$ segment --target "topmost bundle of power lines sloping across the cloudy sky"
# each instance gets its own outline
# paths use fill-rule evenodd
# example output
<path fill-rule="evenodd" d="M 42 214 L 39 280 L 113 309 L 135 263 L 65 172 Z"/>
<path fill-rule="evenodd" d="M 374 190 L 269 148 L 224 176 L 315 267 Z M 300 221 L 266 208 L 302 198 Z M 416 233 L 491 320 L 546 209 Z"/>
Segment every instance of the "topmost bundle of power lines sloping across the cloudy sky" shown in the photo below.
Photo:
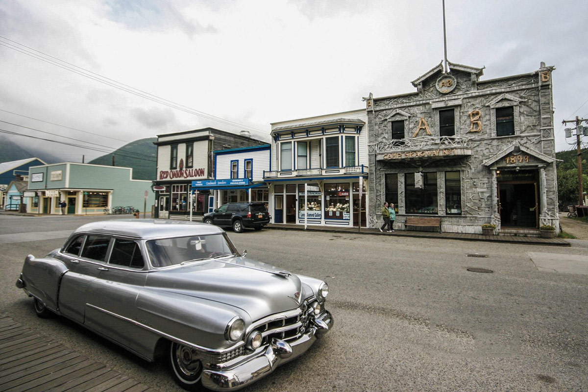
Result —
<path fill-rule="evenodd" d="M 125 84 L 123 84 L 121 82 L 117 82 L 113 79 L 106 78 L 105 76 L 99 75 L 98 73 L 88 71 L 87 69 L 81 68 L 77 65 L 73 65 L 73 64 L 68 63 L 66 61 L 63 61 L 61 59 L 58 59 L 54 56 L 48 55 L 44 52 L 30 48 L 29 46 L 23 45 L 22 43 L 13 41 L 12 39 L 6 38 L 4 36 L 0 36 L 0 38 L 5 39 L 6 41 L 14 42 L 16 45 L 22 46 L 23 48 L 31 49 L 31 51 L 34 51 L 36 53 L 31 52 L 31 51 L 27 51 L 26 49 L 19 48 L 18 46 L 12 45 L 11 43 L 0 41 L 0 45 L 5 46 L 6 48 L 13 49 L 14 51 L 23 53 L 25 55 L 39 59 L 39 60 L 44 61 L 46 63 L 58 66 L 59 68 L 66 69 L 67 71 L 77 73 L 78 75 L 85 76 L 86 78 L 92 79 L 97 82 L 101 82 L 105 85 L 112 86 L 112 87 L 117 88 L 119 90 L 131 93 L 133 95 L 152 100 L 153 102 L 161 103 L 162 105 L 166 105 L 166 106 L 169 106 L 174 109 L 182 110 L 183 112 L 191 113 L 196 116 L 201 116 L 202 118 L 213 120 L 215 122 L 223 123 L 225 125 L 235 126 L 237 128 L 245 128 L 245 129 L 251 130 L 253 132 L 258 132 L 258 133 L 263 133 L 263 135 L 268 135 L 268 132 L 263 131 L 261 129 L 246 126 L 246 125 L 243 125 L 243 124 L 240 124 L 237 122 L 233 122 L 231 120 L 226 120 L 226 119 L 223 119 L 223 118 L 220 118 L 217 116 L 213 116 L 209 113 L 201 112 L 200 110 L 189 108 L 188 106 L 184 106 L 179 103 L 173 102 L 171 100 L 161 98 L 161 97 L 153 95 L 151 93 L 133 88 L 132 86 L 125 85 Z M 40 53 L 40 55 L 38 53 Z M 46 56 L 47 58 L 45 58 L 43 56 Z M 55 59 L 55 60 L 52 60 L 52 59 Z"/>

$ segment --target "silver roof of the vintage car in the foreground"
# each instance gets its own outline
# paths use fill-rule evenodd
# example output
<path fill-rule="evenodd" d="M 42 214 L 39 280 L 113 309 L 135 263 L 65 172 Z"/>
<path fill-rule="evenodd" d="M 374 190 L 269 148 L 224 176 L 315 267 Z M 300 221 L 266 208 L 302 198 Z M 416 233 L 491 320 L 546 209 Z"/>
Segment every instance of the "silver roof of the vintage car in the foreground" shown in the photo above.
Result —
<path fill-rule="evenodd" d="M 77 233 L 101 233 L 117 236 L 155 239 L 222 233 L 213 225 L 181 220 L 163 219 L 117 219 L 86 223 L 74 231 Z"/>

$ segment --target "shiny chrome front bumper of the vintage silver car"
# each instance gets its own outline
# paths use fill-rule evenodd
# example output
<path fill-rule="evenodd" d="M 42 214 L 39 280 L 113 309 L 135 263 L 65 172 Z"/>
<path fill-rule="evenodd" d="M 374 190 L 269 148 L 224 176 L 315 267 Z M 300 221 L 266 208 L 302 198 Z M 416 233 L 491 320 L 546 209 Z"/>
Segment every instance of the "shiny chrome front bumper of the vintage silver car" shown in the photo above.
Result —
<path fill-rule="evenodd" d="M 333 317 L 328 311 L 310 321 L 310 327 L 296 340 L 286 342 L 274 339 L 265 351 L 223 370 L 204 370 L 202 385 L 214 391 L 235 391 L 272 373 L 276 367 L 301 356 L 315 343 L 318 336 L 326 334 L 333 327 Z"/>

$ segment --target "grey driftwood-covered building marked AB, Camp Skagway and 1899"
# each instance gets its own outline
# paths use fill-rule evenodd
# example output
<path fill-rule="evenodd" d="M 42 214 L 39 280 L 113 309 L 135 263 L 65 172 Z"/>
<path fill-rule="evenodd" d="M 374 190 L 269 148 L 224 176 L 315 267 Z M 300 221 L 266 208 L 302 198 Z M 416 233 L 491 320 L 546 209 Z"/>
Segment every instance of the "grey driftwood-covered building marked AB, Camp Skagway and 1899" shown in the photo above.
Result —
<path fill-rule="evenodd" d="M 412 82 L 416 92 L 370 93 L 369 227 L 388 201 L 399 229 L 558 228 L 553 69 L 480 81 L 482 68 L 440 64 Z"/>

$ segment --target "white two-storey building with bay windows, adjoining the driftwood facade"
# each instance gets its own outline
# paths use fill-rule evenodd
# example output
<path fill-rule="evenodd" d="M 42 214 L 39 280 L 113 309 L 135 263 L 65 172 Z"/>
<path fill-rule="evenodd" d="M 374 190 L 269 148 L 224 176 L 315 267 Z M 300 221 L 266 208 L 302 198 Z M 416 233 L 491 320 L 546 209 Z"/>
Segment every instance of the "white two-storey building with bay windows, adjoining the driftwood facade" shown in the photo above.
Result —
<path fill-rule="evenodd" d="M 366 123 L 365 109 L 272 123 L 272 223 L 366 227 Z"/>

